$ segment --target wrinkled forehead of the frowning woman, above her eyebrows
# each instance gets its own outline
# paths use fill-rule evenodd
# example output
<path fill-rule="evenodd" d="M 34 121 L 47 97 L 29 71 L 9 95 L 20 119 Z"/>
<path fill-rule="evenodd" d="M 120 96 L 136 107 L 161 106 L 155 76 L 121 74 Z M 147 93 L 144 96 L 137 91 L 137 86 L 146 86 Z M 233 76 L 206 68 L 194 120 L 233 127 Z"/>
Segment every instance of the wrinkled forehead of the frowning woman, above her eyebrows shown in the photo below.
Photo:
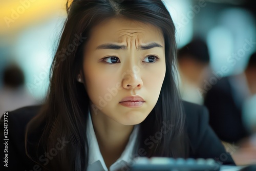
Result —
<path fill-rule="evenodd" d="M 164 46 L 164 37 L 159 28 L 126 18 L 108 19 L 95 26 L 90 36 L 95 44 L 134 40 L 138 44 L 154 41 Z"/>

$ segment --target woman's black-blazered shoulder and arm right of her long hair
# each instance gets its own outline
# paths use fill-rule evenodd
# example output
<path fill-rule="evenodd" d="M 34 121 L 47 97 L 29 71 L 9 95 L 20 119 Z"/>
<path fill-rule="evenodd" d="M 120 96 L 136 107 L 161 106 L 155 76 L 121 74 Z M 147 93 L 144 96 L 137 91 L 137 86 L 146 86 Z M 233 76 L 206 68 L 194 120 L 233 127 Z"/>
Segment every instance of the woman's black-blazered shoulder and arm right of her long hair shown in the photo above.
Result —
<path fill-rule="evenodd" d="M 189 157 L 213 158 L 222 164 L 234 164 L 220 139 L 209 125 L 205 106 L 183 101 L 186 116 L 185 127 L 189 139 Z"/>

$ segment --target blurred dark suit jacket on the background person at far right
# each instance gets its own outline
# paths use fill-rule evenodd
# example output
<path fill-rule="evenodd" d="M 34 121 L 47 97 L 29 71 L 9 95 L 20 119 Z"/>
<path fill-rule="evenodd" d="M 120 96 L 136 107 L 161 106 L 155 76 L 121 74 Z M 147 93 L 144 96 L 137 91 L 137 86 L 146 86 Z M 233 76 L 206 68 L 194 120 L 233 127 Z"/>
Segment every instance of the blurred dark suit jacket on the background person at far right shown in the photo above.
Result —
<path fill-rule="evenodd" d="M 204 105 L 209 110 L 209 124 L 217 136 L 226 142 L 237 142 L 248 136 L 242 122 L 242 102 L 237 104 L 229 77 L 221 78 L 205 95 Z M 243 99 L 240 99 L 243 100 Z"/>

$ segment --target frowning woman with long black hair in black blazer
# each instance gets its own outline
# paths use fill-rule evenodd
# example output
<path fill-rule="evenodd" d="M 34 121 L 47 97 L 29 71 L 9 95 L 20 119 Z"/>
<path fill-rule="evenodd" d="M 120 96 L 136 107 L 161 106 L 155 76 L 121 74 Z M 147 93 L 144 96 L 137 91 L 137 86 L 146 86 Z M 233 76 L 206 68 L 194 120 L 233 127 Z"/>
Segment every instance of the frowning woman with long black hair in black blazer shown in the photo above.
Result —
<path fill-rule="evenodd" d="M 37 169 L 126 170 L 137 156 L 225 153 L 207 115 L 185 120 L 175 27 L 162 1 L 74 1 L 67 9 L 45 104 L 27 124 L 26 154 Z M 200 143 L 212 147 L 203 130 L 217 153 L 200 151 Z"/>

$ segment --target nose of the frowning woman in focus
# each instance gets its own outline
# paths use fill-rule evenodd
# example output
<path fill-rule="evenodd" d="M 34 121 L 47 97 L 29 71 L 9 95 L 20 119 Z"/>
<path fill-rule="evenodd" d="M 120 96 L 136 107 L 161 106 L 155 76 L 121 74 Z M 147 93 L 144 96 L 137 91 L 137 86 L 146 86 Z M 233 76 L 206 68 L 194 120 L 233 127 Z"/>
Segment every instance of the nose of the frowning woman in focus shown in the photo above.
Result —
<path fill-rule="evenodd" d="M 136 71 L 126 72 L 123 76 L 122 87 L 124 89 L 140 89 L 143 86 L 140 73 Z"/>

